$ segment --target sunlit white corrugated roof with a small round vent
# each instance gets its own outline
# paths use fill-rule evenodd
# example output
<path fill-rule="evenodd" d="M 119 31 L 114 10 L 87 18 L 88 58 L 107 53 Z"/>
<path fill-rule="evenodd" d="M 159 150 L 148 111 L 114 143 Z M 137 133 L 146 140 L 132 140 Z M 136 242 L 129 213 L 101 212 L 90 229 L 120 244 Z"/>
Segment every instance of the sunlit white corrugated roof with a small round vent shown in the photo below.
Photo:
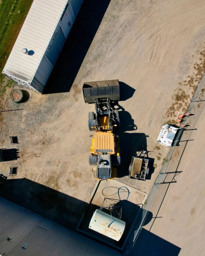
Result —
<path fill-rule="evenodd" d="M 68 0 L 34 0 L 3 72 L 30 83 Z M 22 49 L 34 54 L 22 53 Z"/>

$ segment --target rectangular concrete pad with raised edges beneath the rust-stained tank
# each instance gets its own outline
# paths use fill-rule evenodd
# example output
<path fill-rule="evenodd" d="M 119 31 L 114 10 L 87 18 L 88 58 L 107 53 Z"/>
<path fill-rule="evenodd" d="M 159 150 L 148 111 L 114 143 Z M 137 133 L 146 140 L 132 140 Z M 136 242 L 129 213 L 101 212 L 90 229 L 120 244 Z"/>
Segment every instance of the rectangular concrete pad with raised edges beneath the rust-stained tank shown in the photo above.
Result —
<path fill-rule="evenodd" d="M 118 195 L 119 188 L 120 190 Z M 128 191 L 126 188 L 128 189 Z M 104 201 L 105 198 L 106 200 Z M 127 242 L 130 232 L 136 222 L 136 219 L 140 213 L 140 210 L 146 198 L 146 193 L 131 186 L 128 186 L 118 180 L 101 181 L 99 182 L 99 186 L 95 191 L 95 194 L 87 208 L 87 211 L 82 216 L 82 219 L 78 224 L 77 230 L 86 235 L 94 237 L 95 239 L 98 239 L 101 242 L 110 244 L 115 248 L 123 250 L 124 245 Z M 89 223 L 93 216 L 93 213 L 96 209 L 101 208 L 102 203 L 103 207 L 109 207 L 112 203 L 115 203 L 116 206 L 122 207 L 121 220 L 126 222 L 126 226 L 124 233 L 118 242 L 89 229 Z"/>

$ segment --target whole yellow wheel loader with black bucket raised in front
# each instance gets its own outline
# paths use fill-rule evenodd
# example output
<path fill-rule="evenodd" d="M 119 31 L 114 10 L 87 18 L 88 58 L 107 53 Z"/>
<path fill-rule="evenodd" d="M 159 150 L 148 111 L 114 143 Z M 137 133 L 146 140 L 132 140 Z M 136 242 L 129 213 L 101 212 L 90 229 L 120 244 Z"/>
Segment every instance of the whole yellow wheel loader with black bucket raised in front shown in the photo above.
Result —
<path fill-rule="evenodd" d="M 88 114 L 88 128 L 95 131 L 90 147 L 89 163 L 93 177 L 99 180 L 117 178 L 116 166 L 120 165 L 119 136 L 113 127 L 120 125 L 118 110 L 111 103 L 119 101 L 118 80 L 87 82 L 83 84 L 85 103 L 95 103 L 95 113 Z"/>

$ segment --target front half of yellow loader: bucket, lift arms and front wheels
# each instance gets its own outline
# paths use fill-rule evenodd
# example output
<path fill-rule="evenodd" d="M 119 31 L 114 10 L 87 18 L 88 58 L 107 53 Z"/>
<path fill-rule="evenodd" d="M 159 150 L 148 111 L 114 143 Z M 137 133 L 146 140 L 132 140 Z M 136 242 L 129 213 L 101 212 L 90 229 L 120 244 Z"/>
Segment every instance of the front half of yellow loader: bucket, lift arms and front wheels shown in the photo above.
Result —
<path fill-rule="evenodd" d="M 95 113 L 88 113 L 90 131 L 112 131 L 119 127 L 119 112 L 111 107 L 111 103 L 119 101 L 118 80 L 86 82 L 83 84 L 85 103 L 95 104 Z"/>

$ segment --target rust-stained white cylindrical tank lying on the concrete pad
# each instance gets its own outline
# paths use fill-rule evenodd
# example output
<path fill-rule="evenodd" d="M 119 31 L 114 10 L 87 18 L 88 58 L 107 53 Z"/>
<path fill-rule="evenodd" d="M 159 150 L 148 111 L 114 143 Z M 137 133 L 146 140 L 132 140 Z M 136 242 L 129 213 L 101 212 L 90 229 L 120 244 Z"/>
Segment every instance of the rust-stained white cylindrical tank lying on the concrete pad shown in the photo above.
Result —
<path fill-rule="evenodd" d="M 111 239 L 119 241 L 125 230 L 125 222 L 115 217 L 111 217 L 110 214 L 96 210 L 93 213 L 89 228 L 102 235 L 106 235 Z"/>

